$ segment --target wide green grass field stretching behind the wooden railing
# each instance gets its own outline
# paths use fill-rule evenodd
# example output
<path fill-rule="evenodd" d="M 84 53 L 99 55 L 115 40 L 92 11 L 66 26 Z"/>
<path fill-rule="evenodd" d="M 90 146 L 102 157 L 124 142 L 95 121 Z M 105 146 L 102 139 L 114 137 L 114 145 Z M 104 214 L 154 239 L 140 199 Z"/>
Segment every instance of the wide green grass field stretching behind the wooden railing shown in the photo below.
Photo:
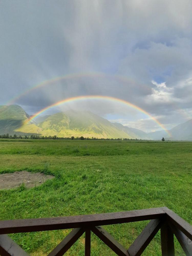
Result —
<path fill-rule="evenodd" d="M 43 218 L 167 206 L 192 224 L 192 142 L 0 140 L 0 173 L 53 174 L 39 187 L 0 191 L 0 218 Z M 105 226 L 128 248 L 147 221 Z M 46 255 L 69 230 L 13 234 Z M 115 255 L 92 234 L 91 255 Z M 176 242 L 176 255 L 183 255 Z M 67 255 L 84 255 L 84 236 Z M 161 255 L 158 232 L 143 255 Z"/>

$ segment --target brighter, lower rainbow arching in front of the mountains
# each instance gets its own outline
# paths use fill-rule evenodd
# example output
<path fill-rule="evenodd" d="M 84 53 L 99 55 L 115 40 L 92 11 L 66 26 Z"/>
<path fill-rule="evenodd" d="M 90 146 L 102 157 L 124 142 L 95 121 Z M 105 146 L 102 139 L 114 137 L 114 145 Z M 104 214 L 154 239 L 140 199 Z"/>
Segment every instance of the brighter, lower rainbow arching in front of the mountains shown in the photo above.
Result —
<path fill-rule="evenodd" d="M 29 124 L 30 121 L 32 121 L 34 118 L 36 118 L 38 115 L 42 114 L 43 112 L 45 112 L 48 109 L 51 109 L 55 106 L 59 106 L 61 104 L 65 104 L 65 103 L 69 103 L 69 102 L 74 102 L 74 101 L 81 101 L 81 100 L 98 100 L 98 99 L 102 99 L 102 100 L 108 100 L 108 101 L 113 101 L 113 102 L 119 102 L 119 103 L 123 103 L 127 106 L 130 106 L 142 113 L 144 113 L 145 115 L 149 116 L 154 122 L 156 122 L 163 130 L 166 131 L 166 133 L 168 134 L 168 136 L 172 136 L 170 134 L 170 132 L 164 127 L 163 124 L 161 124 L 156 118 L 154 118 L 150 113 L 148 113 L 147 111 L 145 111 L 144 109 L 140 108 L 139 106 L 136 106 L 128 101 L 122 100 L 122 99 L 118 99 L 118 98 L 114 98 L 114 97 L 110 97 L 110 96 L 102 96 L 102 95 L 86 95 L 86 96 L 76 96 L 76 97 L 72 97 L 72 98 L 68 98 L 68 99 L 64 99 L 61 101 L 58 101 L 54 104 L 51 104 L 43 109 L 41 109 L 40 111 L 38 111 L 36 114 L 34 114 L 30 119 L 27 120 L 26 124 Z"/>

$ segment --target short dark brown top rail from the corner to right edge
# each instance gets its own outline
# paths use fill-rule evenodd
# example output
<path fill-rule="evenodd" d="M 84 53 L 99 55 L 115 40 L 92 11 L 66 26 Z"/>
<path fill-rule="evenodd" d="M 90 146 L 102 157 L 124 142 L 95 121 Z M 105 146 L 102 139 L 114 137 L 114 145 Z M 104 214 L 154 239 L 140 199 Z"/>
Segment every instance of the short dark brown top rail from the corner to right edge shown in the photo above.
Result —
<path fill-rule="evenodd" d="M 192 241 L 192 226 L 168 208 L 164 209 L 164 211 L 167 214 L 167 221 L 172 222 L 175 227 L 181 230 Z"/>

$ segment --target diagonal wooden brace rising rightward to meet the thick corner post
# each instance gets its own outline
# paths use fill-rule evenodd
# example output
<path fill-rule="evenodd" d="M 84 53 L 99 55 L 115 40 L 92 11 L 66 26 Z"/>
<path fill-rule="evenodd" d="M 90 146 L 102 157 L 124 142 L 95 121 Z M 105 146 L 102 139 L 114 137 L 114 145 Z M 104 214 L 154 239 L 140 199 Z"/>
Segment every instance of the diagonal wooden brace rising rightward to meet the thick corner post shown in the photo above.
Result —
<path fill-rule="evenodd" d="M 135 239 L 132 245 L 129 247 L 128 252 L 131 256 L 139 256 L 146 249 L 148 244 L 154 238 L 158 230 L 161 228 L 163 220 L 155 219 L 151 220 L 141 234 Z"/>

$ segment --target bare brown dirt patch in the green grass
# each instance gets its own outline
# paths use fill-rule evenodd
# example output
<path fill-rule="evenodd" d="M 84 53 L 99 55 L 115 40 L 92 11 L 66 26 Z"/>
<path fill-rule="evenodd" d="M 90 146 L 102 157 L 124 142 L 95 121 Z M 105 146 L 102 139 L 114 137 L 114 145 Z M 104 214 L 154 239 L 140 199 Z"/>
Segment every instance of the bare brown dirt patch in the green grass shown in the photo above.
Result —
<path fill-rule="evenodd" d="M 27 171 L 0 174 L 0 189 L 10 189 L 19 187 L 22 183 L 27 188 L 39 186 L 47 179 L 52 179 L 54 176 L 45 175 L 43 173 L 31 173 Z"/>

